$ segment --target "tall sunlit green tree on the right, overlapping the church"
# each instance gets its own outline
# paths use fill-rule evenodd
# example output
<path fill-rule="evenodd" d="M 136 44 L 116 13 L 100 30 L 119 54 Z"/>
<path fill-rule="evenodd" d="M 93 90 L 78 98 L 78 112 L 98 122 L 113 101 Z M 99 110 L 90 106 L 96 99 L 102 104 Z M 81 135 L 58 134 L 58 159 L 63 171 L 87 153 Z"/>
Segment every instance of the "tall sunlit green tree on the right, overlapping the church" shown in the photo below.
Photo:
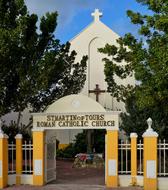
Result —
<path fill-rule="evenodd" d="M 117 40 L 118 46 L 107 44 L 100 49 L 100 52 L 111 56 L 111 59 L 104 59 L 104 72 L 111 94 L 126 101 L 135 93 L 138 106 L 135 111 L 146 109 L 146 115 L 155 113 L 151 117 L 165 137 L 168 128 L 168 1 L 136 1 L 146 6 L 150 14 L 127 11 L 131 22 L 139 26 L 139 37 L 129 33 Z M 123 61 L 127 63 L 125 66 Z M 135 87 L 117 85 L 115 75 L 121 79 L 134 75 L 138 82 Z M 141 123 L 141 127 L 143 125 Z"/>

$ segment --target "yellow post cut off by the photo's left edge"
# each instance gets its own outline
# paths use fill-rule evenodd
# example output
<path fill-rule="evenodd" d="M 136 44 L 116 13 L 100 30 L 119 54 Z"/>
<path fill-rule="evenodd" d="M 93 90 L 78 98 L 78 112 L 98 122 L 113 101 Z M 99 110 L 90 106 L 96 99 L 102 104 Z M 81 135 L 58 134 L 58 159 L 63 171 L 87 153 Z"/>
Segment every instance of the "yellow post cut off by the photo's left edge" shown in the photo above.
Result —
<path fill-rule="evenodd" d="M 8 183 L 8 136 L 1 130 L 0 120 L 0 189 Z"/>

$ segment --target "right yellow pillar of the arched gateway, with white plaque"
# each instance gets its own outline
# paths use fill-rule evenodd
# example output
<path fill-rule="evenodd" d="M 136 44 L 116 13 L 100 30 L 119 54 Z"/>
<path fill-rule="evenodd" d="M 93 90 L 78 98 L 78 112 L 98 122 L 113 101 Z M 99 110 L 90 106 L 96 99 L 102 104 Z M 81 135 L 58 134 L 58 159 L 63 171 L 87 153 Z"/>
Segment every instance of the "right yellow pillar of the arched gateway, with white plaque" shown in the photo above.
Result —
<path fill-rule="evenodd" d="M 106 185 L 118 186 L 118 129 L 107 130 L 106 134 Z"/>

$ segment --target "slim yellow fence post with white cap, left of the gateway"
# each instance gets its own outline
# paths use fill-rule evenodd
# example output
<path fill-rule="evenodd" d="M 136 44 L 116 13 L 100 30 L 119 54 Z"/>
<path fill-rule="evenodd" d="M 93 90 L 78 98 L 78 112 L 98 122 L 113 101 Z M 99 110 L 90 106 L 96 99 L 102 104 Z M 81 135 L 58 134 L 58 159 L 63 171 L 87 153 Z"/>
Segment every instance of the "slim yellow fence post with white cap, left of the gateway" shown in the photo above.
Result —
<path fill-rule="evenodd" d="M 21 184 L 21 175 L 22 175 L 22 135 L 17 134 L 16 139 L 16 185 Z"/>

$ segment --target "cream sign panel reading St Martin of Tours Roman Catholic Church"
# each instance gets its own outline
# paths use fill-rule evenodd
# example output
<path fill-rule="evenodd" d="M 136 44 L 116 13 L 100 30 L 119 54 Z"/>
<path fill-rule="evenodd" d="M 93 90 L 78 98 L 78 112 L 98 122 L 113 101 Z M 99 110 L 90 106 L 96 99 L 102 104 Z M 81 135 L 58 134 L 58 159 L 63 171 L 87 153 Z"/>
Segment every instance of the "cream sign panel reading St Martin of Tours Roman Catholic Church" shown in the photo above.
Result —
<path fill-rule="evenodd" d="M 118 114 L 112 114 L 112 112 L 34 113 L 33 127 L 38 129 L 118 129 Z"/>

